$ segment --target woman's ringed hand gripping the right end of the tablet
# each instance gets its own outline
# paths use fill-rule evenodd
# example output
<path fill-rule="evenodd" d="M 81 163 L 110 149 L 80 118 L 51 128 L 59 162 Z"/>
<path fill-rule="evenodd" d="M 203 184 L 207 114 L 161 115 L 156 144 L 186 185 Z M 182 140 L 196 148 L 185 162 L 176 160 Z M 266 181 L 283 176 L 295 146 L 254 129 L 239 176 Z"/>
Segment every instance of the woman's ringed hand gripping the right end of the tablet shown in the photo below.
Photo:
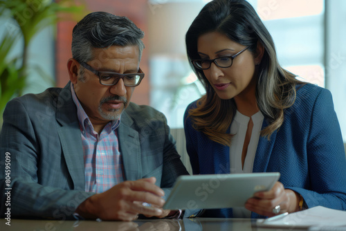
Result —
<path fill-rule="evenodd" d="M 297 212 L 299 210 L 300 195 L 292 190 L 285 190 L 284 185 L 276 182 L 273 188 L 266 192 L 256 192 L 246 201 L 245 207 L 263 216 L 276 216 L 284 212 Z M 273 208 L 280 205 L 280 212 L 275 214 Z"/>

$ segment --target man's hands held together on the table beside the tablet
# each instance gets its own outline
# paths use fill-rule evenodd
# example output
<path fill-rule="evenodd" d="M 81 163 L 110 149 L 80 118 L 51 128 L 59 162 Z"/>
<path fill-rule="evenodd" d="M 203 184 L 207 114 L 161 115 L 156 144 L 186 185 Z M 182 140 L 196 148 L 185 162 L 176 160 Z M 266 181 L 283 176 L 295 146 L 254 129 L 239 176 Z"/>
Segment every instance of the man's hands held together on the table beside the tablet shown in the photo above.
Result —
<path fill-rule="evenodd" d="M 161 196 L 163 190 L 154 183 L 156 178 L 144 178 L 138 181 L 125 181 L 110 190 L 95 194 L 81 203 L 77 210 L 86 219 L 133 221 L 138 214 L 161 217 L 165 212 L 161 209 L 165 201 Z M 143 201 L 152 207 L 134 203 Z"/>

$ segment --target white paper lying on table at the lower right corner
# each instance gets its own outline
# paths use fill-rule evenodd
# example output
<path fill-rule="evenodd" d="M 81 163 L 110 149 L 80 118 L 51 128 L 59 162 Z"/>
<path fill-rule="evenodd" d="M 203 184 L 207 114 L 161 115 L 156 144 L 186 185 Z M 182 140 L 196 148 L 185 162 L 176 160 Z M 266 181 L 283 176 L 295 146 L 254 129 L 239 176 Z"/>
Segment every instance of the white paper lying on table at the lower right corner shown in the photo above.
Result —
<path fill-rule="evenodd" d="M 293 212 L 280 219 L 266 221 L 259 219 L 258 226 L 309 228 L 315 226 L 346 226 L 346 211 L 333 210 L 327 207 L 316 206 L 307 210 Z"/>

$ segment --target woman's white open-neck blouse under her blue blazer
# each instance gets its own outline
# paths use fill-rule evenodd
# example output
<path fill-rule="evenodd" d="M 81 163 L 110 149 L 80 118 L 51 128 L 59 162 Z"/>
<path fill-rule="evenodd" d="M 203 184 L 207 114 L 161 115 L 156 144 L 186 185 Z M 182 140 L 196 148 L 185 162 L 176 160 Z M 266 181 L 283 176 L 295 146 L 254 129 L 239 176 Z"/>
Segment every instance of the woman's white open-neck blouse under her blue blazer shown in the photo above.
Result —
<path fill-rule="evenodd" d="M 253 162 L 255 160 L 264 116 L 261 111 L 258 111 L 251 116 L 251 119 L 253 120 L 253 131 L 251 132 L 250 142 L 248 143 L 244 167 L 242 167 L 242 151 L 250 117 L 237 111 L 230 126 L 230 133 L 234 134 L 232 144 L 230 145 L 230 173 L 232 174 L 253 172 Z M 244 207 L 233 207 L 233 217 L 249 218 L 251 217 L 251 211 L 246 210 Z"/>

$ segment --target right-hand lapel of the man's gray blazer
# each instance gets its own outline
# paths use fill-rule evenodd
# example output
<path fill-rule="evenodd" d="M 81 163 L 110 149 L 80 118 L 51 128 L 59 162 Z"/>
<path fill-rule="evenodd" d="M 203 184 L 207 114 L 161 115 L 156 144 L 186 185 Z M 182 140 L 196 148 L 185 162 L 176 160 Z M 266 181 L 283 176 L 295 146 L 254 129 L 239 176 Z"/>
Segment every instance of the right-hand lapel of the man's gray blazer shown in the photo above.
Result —
<path fill-rule="evenodd" d="M 134 121 L 125 110 L 120 119 L 118 141 L 126 181 L 136 181 L 142 176 L 139 134 L 138 131 L 131 128 L 133 123 Z"/>

